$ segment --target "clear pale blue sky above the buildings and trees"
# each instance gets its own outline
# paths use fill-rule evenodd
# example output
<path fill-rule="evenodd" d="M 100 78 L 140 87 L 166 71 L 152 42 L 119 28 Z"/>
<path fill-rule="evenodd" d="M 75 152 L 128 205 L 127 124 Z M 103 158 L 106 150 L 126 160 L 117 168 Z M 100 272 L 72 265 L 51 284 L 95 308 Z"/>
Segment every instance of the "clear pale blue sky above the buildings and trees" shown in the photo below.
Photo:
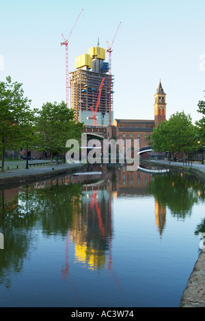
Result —
<path fill-rule="evenodd" d="M 205 91 L 204 0 L 1 0 L 0 81 L 23 83 L 32 107 L 66 101 L 65 47 L 74 59 L 113 44 L 114 117 L 154 119 L 159 80 L 167 93 L 167 119 L 176 111 L 193 121 Z M 107 56 L 108 61 L 108 56 Z"/>

